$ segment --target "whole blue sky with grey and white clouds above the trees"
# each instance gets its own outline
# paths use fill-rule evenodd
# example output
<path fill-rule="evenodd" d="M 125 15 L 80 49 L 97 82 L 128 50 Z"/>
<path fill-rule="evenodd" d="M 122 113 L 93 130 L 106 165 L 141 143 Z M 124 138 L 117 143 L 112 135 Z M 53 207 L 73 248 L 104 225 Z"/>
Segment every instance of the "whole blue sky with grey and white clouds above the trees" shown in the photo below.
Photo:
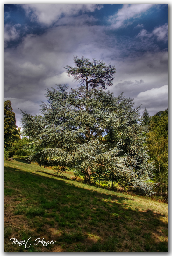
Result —
<path fill-rule="evenodd" d="M 150 116 L 168 107 L 167 4 L 5 4 L 4 95 L 39 113 L 46 89 L 77 87 L 64 69 L 73 56 L 116 68 L 107 90 L 134 99 Z"/>

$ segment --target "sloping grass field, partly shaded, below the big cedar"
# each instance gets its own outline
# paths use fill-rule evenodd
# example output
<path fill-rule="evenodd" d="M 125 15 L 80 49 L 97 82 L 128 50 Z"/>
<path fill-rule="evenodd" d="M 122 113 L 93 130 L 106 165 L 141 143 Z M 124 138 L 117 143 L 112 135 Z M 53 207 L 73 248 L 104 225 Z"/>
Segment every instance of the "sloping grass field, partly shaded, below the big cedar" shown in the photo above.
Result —
<path fill-rule="evenodd" d="M 5 160 L 5 252 L 168 251 L 168 204 L 54 177 L 15 159 Z M 10 238 L 30 238 L 31 245 Z M 34 245 L 37 238 L 56 242 Z"/>

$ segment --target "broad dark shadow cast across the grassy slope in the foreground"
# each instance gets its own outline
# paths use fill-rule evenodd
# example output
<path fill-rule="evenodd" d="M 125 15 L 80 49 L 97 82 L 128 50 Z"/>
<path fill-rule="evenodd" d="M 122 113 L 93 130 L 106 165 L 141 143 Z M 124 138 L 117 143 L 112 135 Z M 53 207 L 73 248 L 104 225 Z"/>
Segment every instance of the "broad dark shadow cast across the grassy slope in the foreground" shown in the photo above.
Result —
<path fill-rule="evenodd" d="M 77 228 L 80 228 L 82 232 L 91 233 L 101 239 L 98 242 L 93 239 L 89 244 L 86 237 L 79 239 L 86 246 L 85 252 L 115 252 L 119 248 L 135 252 L 168 250 L 163 236 L 163 232 L 167 232 L 168 224 L 161 220 L 163 214 L 137 208 L 135 200 L 128 196 L 94 191 L 88 185 L 79 188 L 74 182 L 70 184 L 68 181 L 10 167 L 5 168 L 5 181 L 8 182 L 8 193 L 12 194 L 13 189 L 18 188 L 20 197 L 26 199 L 16 206 L 13 214 L 22 214 L 28 220 L 53 216 L 54 221 L 48 225 L 55 225 L 64 231 L 61 238 L 56 237 L 59 244 L 65 242 L 70 247 L 78 239 L 77 233 L 70 233 L 70 229 L 77 232 Z M 128 200 L 133 200 L 132 207 Z M 69 235 L 65 233 L 65 229 Z M 37 230 L 42 230 L 41 235 L 44 234 L 40 227 Z M 61 241 L 62 238 L 64 241 Z"/>

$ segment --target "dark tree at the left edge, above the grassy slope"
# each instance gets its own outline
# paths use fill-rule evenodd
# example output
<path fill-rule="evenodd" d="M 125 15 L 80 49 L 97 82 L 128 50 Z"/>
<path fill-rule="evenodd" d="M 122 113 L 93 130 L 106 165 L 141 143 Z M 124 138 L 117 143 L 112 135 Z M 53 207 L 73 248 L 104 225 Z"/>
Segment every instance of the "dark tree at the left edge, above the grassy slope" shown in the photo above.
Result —
<path fill-rule="evenodd" d="M 4 103 L 4 147 L 12 157 L 14 154 L 13 145 L 20 139 L 16 126 L 15 113 L 12 111 L 11 101 Z"/>

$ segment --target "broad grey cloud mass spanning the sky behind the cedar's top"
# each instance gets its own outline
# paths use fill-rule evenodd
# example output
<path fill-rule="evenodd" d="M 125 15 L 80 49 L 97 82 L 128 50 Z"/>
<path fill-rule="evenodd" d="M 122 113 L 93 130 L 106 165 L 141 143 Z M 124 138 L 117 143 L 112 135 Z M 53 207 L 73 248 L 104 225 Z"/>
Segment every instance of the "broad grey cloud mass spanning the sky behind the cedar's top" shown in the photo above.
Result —
<path fill-rule="evenodd" d="M 49 20 L 48 24 L 56 22 L 57 26 L 47 28 L 39 35 L 25 35 L 16 47 L 6 48 L 5 97 L 13 99 L 12 107 L 18 120 L 18 108 L 31 114 L 39 112 L 41 100 L 47 100 L 44 96 L 46 88 L 58 83 L 67 83 L 72 88 L 77 86 L 63 68 L 74 66 L 73 55 L 115 65 L 114 86 L 108 88 L 115 96 L 124 92 L 127 97 L 137 98 L 140 92 L 167 84 L 168 53 L 160 52 L 151 38 L 146 37 L 141 44 L 135 38 L 118 39 L 115 33 L 106 33 L 105 25 L 93 25 L 94 17 L 88 17 L 86 13 L 80 15 L 79 11 L 78 14 L 77 17 L 64 14 L 66 16 L 59 16 L 58 21 L 52 14 L 57 22 Z M 138 104 L 142 103 L 140 99 Z"/>

